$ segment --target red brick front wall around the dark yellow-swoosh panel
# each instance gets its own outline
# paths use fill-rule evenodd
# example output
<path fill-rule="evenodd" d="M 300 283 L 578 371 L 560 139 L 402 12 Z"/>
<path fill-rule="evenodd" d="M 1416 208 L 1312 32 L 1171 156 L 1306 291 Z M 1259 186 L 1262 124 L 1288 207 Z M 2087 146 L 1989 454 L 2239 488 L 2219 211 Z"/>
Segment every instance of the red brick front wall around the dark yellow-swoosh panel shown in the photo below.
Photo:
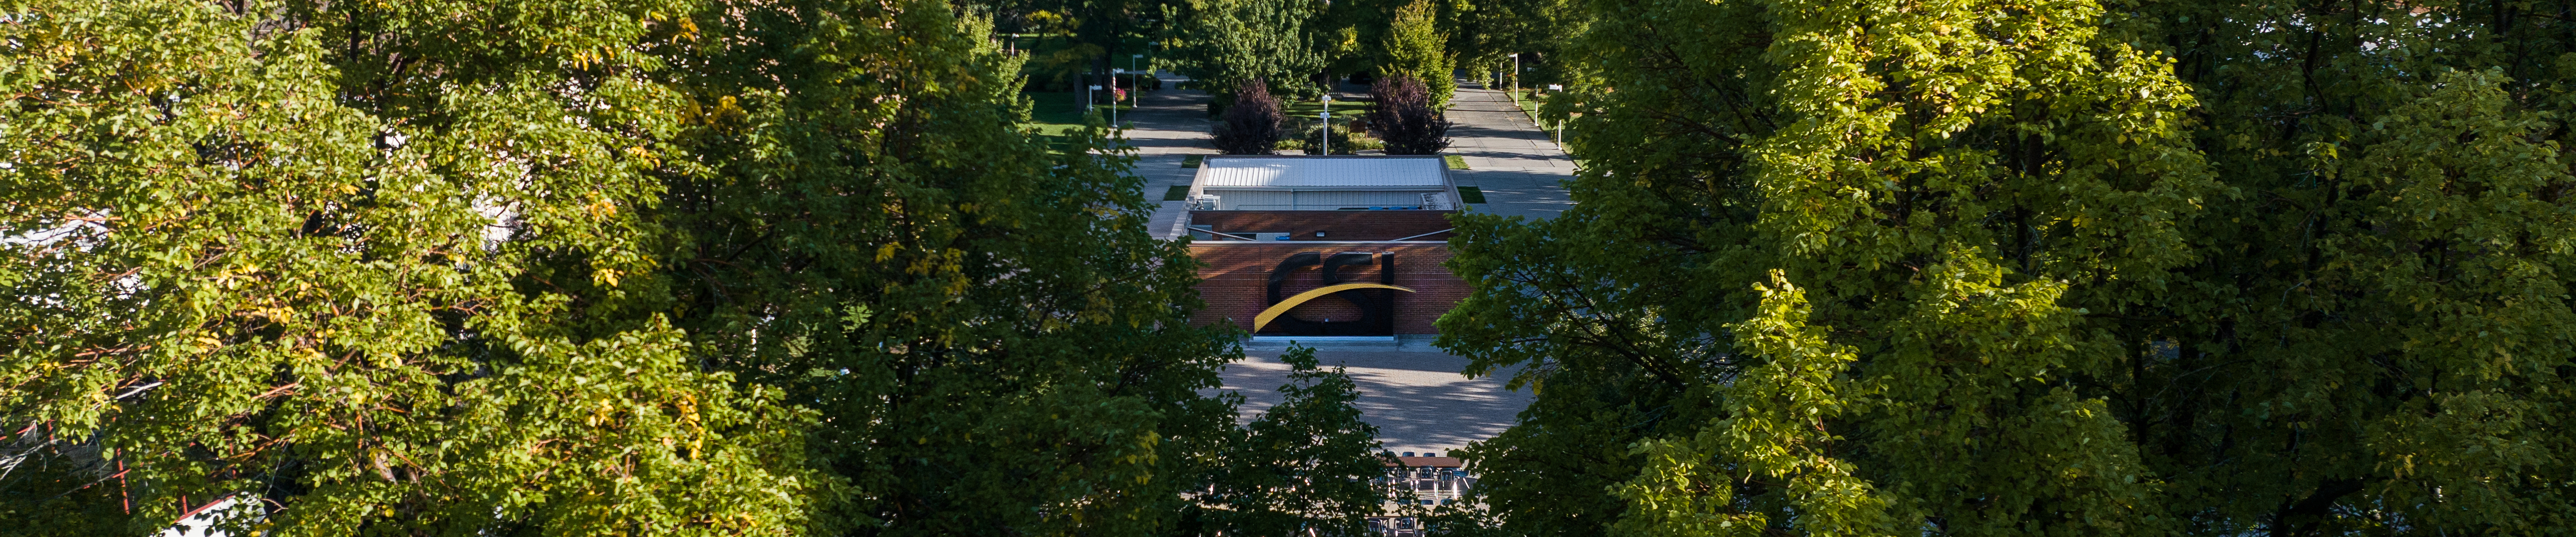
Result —
<path fill-rule="evenodd" d="M 1208 299 L 1208 310 L 1200 312 L 1200 320 L 1234 320 L 1234 325 L 1252 330 L 1252 318 L 1270 307 L 1270 268 L 1291 253 L 1321 253 L 1324 258 L 1332 258 L 1334 253 L 1396 253 L 1396 284 L 1414 289 L 1396 294 L 1396 333 L 1437 333 L 1432 320 L 1458 305 L 1458 299 L 1466 299 L 1468 292 L 1466 281 L 1440 266 L 1450 258 L 1448 245 L 1440 243 L 1193 243 L 1190 256 L 1206 263 L 1198 268 L 1198 294 Z M 1347 271 L 1345 281 L 1378 281 L 1378 263 L 1368 263 L 1365 268 L 1345 266 L 1342 271 Z M 1280 284 L 1280 297 L 1293 297 L 1316 287 L 1324 287 L 1324 271 L 1306 266 Z M 1358 310 L 1342 299 L 1314 299 L 1298 305 L 1291 315 L 1306 320 L 1355 320 Z"/>

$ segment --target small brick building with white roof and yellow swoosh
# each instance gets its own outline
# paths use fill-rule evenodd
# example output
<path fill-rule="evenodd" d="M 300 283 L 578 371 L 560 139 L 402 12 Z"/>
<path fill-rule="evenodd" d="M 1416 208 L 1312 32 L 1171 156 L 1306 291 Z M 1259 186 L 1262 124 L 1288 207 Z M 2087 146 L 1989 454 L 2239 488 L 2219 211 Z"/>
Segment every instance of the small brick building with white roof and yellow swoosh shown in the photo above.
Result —
<path fill-rule="evenodd" d="M 1190 256 L 1208 323 L 1255 338 L 1394 341 L 1466 299 L 1443 263 L 1458 188 L 1440 157 L 1208 157 Z M 1329 289 L 1327 289 L 1329 287 Z"/>

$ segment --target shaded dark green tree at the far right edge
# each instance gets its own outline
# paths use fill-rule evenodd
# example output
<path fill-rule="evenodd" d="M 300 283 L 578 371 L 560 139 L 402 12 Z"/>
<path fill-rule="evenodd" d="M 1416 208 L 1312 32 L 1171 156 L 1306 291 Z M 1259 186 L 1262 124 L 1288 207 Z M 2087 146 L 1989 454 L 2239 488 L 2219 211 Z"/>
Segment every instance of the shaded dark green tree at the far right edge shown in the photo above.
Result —
<path fill-rule="evenodd" d="M 2239 191 L 2190 230 L 2195 284 L 2123 325 L 2156 359 L 2120 410 L 2172 475 L 2174 516 L 2269 534 L 2576 527 L 2576 26 L 2545 15 L 2568 8 L 2141 13 L 2200 88 L 2197 147 Z"/>

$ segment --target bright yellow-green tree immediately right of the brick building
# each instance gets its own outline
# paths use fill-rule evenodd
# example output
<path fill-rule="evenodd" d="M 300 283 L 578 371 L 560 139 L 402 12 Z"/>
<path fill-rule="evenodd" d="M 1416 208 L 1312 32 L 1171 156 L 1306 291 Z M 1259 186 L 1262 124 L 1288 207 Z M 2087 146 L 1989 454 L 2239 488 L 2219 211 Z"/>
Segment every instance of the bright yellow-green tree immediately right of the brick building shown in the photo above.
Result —
<path fill-rule="evenodd" d="M 2099 315 L 2156 307 L 2223 194 L 2169 59 L 2092 3 L 1589 10 L 1579 204 L 1463 219 L 1479 292 L 1443 318 L 1479 367 L 1538 364 L 1528 423 L 1597 434 L 1507 434 L 1479 467 L 1618 480 L 1530 532 L 2172 529 L 2094 382 L 2130 351 Z M 1600 444 L 1631 449 L 1574 449 Z M 1515 467 L 1579 454 L 1636 470 Z M 1535 509 L 1515 480 L 1489 498 Z"/>

